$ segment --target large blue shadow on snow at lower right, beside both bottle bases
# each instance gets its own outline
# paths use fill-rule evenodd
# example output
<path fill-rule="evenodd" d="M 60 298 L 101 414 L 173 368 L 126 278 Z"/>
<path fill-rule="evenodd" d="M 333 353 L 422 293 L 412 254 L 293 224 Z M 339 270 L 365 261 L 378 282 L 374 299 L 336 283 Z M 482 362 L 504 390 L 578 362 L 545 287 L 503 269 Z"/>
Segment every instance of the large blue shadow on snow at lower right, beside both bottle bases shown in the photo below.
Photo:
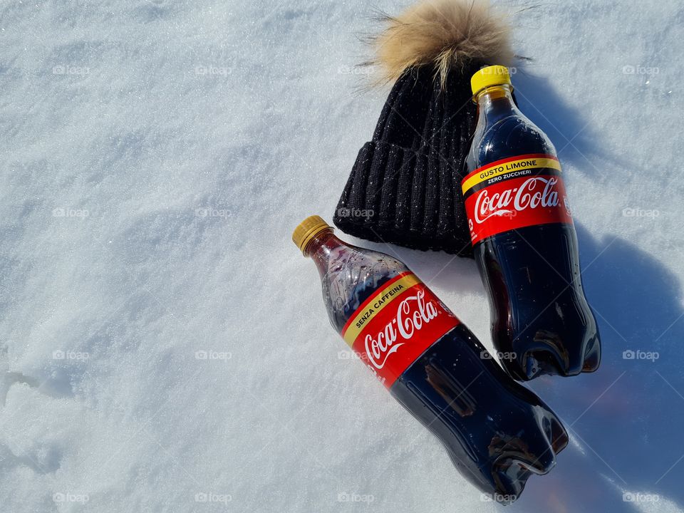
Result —
<path fill-rule="evenodd" d="M 684 489 L 684 309 L 676 276 L 631 242 L 576 225 L 582 282 L 601 332 L 601 367 L 529 383 L 571 445 L 507 511 L 680 510 Z M 534 484 L 533 484 L 534 483 Z M 571 507 L 569 507 L 571 505 Z"/>

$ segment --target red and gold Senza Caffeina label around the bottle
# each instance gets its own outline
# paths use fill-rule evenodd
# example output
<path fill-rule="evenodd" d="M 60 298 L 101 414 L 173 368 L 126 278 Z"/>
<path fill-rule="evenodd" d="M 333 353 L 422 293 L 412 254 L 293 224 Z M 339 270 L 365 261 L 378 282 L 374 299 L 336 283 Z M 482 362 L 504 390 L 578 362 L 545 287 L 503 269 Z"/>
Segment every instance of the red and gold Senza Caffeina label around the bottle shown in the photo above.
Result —
<path fill-rule="evenodd" d="M 412 272 L 395 276 L 349 318 L 342 336 L 385 387 L 460 321 Z"/>

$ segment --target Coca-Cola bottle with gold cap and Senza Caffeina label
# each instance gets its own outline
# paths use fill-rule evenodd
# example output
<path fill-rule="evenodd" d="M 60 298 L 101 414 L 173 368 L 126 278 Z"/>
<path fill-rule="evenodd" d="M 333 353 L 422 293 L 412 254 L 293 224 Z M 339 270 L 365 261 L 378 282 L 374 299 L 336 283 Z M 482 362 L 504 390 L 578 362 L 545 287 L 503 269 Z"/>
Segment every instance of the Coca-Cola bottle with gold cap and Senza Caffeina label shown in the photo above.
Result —
<path fill-rule="evenodd" d="M 512 502 L 531 474 L 554 467 L 568 442 L 559 418 L 403 263 L 345 244 L 318 216 L 292 238 L 318 267 L 333 328 L 467 480 Z"/>

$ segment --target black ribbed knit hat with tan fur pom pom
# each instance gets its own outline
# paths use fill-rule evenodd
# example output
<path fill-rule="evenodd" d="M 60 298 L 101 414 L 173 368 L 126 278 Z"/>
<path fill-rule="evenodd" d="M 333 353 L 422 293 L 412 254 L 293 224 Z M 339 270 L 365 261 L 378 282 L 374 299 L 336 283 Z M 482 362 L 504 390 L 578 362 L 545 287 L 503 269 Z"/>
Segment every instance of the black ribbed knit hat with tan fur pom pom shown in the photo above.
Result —
<path fill-rule="evenodd" d="M 477 121 L 470 77 L 512 62 L 509 28 L 483 0 L 426 0 L 385 23 L 370 63 L 394 85 L 333 222 L 362 239 L 472 256 L 460 190 Z"/>

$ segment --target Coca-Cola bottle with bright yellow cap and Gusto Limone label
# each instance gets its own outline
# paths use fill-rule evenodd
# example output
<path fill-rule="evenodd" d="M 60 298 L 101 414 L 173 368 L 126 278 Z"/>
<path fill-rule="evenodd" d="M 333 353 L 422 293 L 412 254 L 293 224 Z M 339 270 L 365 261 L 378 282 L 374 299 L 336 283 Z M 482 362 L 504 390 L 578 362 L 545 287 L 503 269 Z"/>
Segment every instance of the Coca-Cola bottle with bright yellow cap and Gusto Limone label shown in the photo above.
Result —
<path fill-rule="evenodd" d="M 513 103 L 507 68 L 483 68 L 471 84 L 477 127 L 461 186 L 502 365 L 520 380 L 596 371 L 598 328 L 556 150 Z"/>

